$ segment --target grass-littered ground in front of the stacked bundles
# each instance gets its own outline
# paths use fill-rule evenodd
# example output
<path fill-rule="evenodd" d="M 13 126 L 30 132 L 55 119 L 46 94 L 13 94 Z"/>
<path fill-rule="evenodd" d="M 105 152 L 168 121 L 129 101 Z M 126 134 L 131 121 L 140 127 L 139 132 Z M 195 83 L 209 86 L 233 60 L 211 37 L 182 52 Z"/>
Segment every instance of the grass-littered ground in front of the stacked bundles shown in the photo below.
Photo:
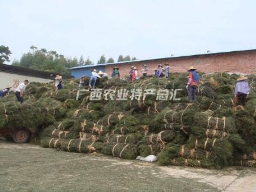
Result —
<path fill-rule="evenodd" d="M 256 191 L 256 170 L 158 166 L 0 140 L 0 191 Z"/>

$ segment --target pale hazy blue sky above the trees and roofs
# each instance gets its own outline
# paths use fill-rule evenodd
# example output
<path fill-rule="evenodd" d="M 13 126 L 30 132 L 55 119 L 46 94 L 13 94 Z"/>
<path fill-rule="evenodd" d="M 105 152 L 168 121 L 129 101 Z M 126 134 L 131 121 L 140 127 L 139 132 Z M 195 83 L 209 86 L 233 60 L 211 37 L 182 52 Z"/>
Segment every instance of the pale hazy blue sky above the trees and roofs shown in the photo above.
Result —
<path fill-rule="evenodd" d="M 256 49 L 256 1 L 0 0 L 0 45 L 139 60 Z M 10 62 L 10 63 L 11 63 Z"/>

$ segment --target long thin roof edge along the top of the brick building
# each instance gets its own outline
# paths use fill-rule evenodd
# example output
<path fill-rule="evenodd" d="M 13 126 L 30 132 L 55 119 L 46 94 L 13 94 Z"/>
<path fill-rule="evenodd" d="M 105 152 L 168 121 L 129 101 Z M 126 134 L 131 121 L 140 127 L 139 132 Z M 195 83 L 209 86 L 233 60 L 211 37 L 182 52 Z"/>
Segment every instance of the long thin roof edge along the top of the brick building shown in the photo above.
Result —
<path fill-rule="evenodd" d="M 176 60 L 180 58 L 196 58 L 200 56 L 214 56 L 214 55 L 221 55 L 221 54 L 230 54 L 230 53 L 239 53 L 239 52 L 254 52 L 256 49 L 248 49 L 243 51 L 227 51 L 227 52 L 207 52 L 206 54 L 193 54 L 188 56 L 177 56 L 177 57 L 169 57 L 169 58 L 157 58 L 157 59 L 151 59 L 151 60 L 135 60 L 135 61 L 123 61 L 123 62 L 116 62 L 116 63 L 104 63 L 104 64 L 94 64 L 94 65 L 84 65 L 79 67 L 71 67 L 68 69 L 78 69 L 78 68 L 89 68 L 89 67 L 100 67 L 105 65 L 118 65 L 118 64 L 129 64 L 129 63 L 140 63 L 140 62 L 147 62 L 147 61 L 159 61 L 159 60 Z"/>

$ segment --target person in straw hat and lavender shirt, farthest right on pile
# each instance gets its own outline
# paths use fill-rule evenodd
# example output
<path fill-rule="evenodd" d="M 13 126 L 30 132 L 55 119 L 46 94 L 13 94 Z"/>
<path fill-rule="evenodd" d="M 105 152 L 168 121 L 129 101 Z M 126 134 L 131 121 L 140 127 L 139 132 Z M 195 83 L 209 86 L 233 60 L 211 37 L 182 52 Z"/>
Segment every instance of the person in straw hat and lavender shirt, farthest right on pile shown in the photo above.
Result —
<path fill-rule="evenodd" d="M 245 81 L 247 77 L 244 77 L 241 75 L 237 79 L 236 83 L 236 90 L 235 90 L 235 97 L 236 97 L 236 104 L 238 106 L 244 106 L 246 103 L 246 100 L 248 98 L 248 95 L 250 93 L 250 87 L 247 81 Z"/>

